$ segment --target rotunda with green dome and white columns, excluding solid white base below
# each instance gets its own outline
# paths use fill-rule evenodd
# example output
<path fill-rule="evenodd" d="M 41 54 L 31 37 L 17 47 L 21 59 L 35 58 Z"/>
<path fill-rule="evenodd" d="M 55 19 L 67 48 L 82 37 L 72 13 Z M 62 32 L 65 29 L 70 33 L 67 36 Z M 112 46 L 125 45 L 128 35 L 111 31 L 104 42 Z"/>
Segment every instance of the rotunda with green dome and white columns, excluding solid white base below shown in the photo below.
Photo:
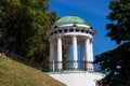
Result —
<path fill-rule="evenodd" d="M 62 17 L 54 23 L 49 33 L 50 71 L 67 69 L 86 69 L 88 71 L 93 71 L 92 43 L 95 31 L 84 19 L 78 16 Z M 67 49 L 66 60 L 64 61 L 65 64 L 63 64 L 63 45 L 65 45 Z M 80 47 L 80 51 L 78 49 L 78 46 Z"/>

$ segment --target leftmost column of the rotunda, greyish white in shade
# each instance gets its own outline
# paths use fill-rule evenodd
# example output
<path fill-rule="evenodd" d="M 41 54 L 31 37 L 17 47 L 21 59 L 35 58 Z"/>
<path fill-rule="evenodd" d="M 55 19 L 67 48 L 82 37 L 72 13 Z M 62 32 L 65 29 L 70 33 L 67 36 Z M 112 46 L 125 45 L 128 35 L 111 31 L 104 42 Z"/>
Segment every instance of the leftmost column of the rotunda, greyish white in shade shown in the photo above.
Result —
<path fill-rule="evenodd" d="M 50 41 L 50 71 L 54 71 L 54 43 Z"/>

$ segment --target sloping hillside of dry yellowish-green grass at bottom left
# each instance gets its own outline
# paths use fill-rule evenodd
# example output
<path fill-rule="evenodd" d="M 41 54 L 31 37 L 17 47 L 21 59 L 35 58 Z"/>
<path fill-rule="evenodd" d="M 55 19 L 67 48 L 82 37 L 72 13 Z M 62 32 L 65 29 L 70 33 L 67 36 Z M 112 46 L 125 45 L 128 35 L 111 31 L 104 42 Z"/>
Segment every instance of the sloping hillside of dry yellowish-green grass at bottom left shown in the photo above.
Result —
<path fill-rule="evenodd" d="M 0 86 L 65 86 L 48 74 L 0 57 Z"/>

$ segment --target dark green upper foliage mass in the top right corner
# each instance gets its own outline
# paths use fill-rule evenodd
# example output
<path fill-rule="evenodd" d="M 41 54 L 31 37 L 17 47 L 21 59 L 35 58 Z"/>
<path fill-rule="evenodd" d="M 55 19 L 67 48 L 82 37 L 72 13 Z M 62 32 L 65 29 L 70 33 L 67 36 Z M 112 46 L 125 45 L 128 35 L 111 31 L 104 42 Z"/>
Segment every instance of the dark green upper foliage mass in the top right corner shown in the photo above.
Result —
<path fill-rule="evenodd" d="M 115 0 L 110 2 L 109 9 L 112 12 L 107 16 L 112 20 L 107 25 L 108 37 L 117 44 L 130 41 L 130 1 Z"/>

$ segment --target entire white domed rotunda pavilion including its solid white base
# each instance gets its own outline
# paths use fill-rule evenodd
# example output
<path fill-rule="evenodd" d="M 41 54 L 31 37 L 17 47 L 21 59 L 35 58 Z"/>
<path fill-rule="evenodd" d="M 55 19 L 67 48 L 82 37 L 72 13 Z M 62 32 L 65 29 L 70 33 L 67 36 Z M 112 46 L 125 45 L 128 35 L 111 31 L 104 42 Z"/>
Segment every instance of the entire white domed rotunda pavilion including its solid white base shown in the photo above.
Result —
<path fill-rule="evenodd" d="M 94 72 L 93 68 L 93 28 L 78 16 L 65 16 L 54 23 L 49 34 L 49 74 L 67 86 L 78 86 L 79 81 L 81 86 L 95 86 L 104 74 Z M 83 85 L 86 82 L 91 84 Z"/>

